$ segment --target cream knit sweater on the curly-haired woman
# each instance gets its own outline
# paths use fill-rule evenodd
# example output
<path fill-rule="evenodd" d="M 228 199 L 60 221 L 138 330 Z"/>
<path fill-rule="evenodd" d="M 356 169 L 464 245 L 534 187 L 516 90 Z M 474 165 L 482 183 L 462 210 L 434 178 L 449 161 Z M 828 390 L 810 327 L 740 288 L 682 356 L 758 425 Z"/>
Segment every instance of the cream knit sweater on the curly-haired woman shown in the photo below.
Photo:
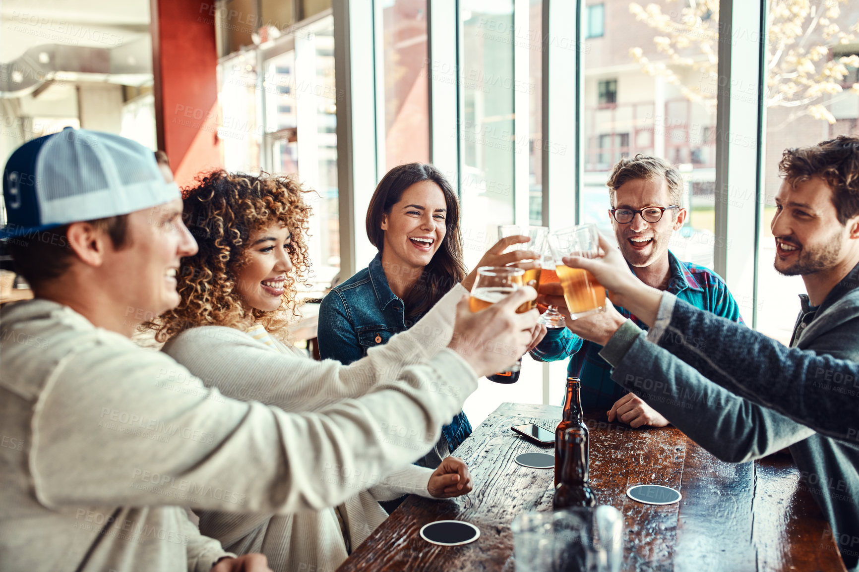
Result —
<path fill-rule="evenodd" d="M 465 291 L 461 286 L 452 290 L 418 322 L 411 334 L 417 335 L 424 347 L 438 348 L 449 343 L 455 305 Z M 396 336 L 390 341 L 393 350 L 406 343 L 411 342 Z M 206 386 L 217 387 L 228 397 L 258 400 L 284 411 L 314 411 L 332 399 L 359 397 L 380 380 L 365 376 L 365 363 L 343 366 L 333 360 L 314 362 L 300 350 L 277 340 L 260 340 L 253 332 L 220 326 L 182 332 L 165 344 L 163 351 L 204 380 Z M 387 358 L 377 361 L 380 368 L 390 367 L 390 374 L 396 375 L 396 368 L 417 359 L 420 357 L 415 355 L 405 362 Z M 302 375 L 296 378 L 299 369 Z M 352 386 L 353 376 L 366 385 Z M 351 548 L 354 550 L 367 539 L 387 517 L 376 501 L 405 493 L 430 498 L 427 483 L 431 474 L 431 469 L 411 465 L 372 487 L 369 485 L 377 479 L 368 479 L 368 490 L 351 496 L 339 507 Z M 220 540 L 228 551 L 264 553 L 275 572 L 334 570 L 348 556 L 333 508 L 288 515 L 203 511 L 199 526 L 200 532 Z"/>

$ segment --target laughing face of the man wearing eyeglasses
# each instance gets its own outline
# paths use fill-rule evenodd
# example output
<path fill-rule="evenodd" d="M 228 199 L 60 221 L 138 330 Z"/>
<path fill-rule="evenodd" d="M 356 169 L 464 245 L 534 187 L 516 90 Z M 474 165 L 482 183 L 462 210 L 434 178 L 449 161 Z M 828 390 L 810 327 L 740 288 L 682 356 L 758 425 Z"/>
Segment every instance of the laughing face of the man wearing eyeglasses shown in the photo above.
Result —
<path fill-rule="evenodd" d="M 671 196 L 665 179 L 633 179 L 618 186 L 612 208 L 641 210 L 649 206 L 670 206 Z M 614 234 L 624 259 L 639 268 L 668 264 L 668 242 L 673 231 L 683 226 L 686 210 L 666 210 L 657 222 L 645 221 L 640 213 L 631 222 L 621 224 L 609 213 Z"/>

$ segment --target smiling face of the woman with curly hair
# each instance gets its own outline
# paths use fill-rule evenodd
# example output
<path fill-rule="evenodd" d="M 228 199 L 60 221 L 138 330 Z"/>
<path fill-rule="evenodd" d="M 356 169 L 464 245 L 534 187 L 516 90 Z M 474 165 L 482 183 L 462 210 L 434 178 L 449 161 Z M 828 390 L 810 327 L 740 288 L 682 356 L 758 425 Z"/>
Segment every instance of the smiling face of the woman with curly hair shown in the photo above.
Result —
<path fill-rule="evenodd" d="M 236 271 L 236 292 L 245 307 L 273 312 L 283 300 L 283 283 L 293 269 L 292 242 L 289 228 L 273 222 L 251 233 L 243 253 L 242 265 Z"/>

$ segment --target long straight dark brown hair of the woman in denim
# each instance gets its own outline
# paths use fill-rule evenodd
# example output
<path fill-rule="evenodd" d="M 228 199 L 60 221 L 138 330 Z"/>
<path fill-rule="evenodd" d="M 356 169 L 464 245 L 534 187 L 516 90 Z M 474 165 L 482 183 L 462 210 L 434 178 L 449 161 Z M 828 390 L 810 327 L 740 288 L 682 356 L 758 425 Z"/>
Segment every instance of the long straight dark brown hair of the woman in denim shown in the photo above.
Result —
<path fill-rule="evenodd" d="M 385 231 L 381 221 L 391 214 L 394 204 L 399 203 L 403 192 L 415 183 L 432 181 L 442 189 L 448 213 L 445 216 L 445 233 L 442 245 L 430 264 L 423 268 L 415 287 L 405 295 L 405 317 L 416 318 L 433 307 L 454 284 L 466 277 L 466 265 L 462 262 L 462 234 L 460 233 L 460 199 L 454 187 L 444 175 L 426 163 L 405 163 L 388 171 L 376 186 L 373 198 L 367 209 L 367 238 L 382 252 L 385 244 Z"/>

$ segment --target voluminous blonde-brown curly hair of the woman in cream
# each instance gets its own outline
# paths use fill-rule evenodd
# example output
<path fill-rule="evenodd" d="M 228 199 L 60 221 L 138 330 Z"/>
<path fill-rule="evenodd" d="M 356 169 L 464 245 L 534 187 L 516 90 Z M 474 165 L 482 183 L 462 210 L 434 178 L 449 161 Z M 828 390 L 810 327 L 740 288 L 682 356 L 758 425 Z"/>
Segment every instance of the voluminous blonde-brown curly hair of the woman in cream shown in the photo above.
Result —
<path fill-rule="evenodd" d="M 310 207 L 302 199 L 306 192 L 310 191 L 291 177 L 223 170 L 201 175 L 196 186 L 184 189 L 183 218 L 199 250 L 182 259 L 176 277 L 179 305 L 149 324 L 155 329 L 155 339 L 164 342 L 196 326 L 244 329 L 255 321 L 286 340 L 290 320 L 287 310 L 291 310 L 291 316 L 297 315 L 296 287 L 310 268 L 305 242 Z M 283 283 L 277 310 L 248 311 L 236 290 L 238 271 L 246 262 L 251 234 L 274 222 L 282 222 L 289 230 L 289 259 L 295 269 Z"/>

